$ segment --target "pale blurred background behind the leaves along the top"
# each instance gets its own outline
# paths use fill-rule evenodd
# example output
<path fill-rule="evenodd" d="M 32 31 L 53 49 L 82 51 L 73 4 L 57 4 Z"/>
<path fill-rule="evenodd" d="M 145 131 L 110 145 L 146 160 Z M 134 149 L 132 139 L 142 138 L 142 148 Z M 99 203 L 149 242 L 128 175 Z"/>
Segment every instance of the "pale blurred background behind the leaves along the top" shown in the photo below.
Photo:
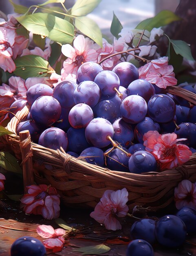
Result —
<path fill-rule="evenodd" d="M 13 0 L 13 2 L 29 7 L 46 0 Z M 139 22 L 153 17 L 161 10 L 175 11 L 179 2 L 180 0 L 102 0 L 88 16 L 97 22 L 103 34 L 110 35 L 113 11 L 123 27 L 133 29 Z M 67 8 L 72 7 L 74 3 L 75 0 L 65 1 Z M 0 11 L 6 14 L 13 13 L 9 0 L 0 0 Z"/>

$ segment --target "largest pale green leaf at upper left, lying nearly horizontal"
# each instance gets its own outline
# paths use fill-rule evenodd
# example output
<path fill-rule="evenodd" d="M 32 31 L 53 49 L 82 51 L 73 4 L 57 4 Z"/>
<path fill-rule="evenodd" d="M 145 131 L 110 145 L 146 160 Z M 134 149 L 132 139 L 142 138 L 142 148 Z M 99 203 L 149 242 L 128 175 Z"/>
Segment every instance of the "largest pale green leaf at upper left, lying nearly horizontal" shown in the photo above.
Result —
<path fill-rule="evenodd" d="M 58 43 L 72 43 L 74 26 L 57 16 L 48 13 L 33 13 L 16 18 L 28 31 L 33 34 L 48 36 Z"/>

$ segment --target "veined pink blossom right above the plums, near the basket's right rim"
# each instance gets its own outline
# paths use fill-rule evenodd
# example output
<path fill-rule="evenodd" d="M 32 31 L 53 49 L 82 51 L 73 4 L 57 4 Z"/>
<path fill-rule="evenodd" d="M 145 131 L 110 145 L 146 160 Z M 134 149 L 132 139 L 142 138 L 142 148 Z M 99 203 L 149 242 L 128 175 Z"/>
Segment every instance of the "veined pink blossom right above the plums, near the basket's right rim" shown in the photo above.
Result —
<path fill-rule="evenodd" d="M 168 65 L 168 58 L 161 57 L 152 60 L 139 68 L 139 78 L 156 84 L 159 88 L 167 88 L 177 84 L 172 65 Z"/>

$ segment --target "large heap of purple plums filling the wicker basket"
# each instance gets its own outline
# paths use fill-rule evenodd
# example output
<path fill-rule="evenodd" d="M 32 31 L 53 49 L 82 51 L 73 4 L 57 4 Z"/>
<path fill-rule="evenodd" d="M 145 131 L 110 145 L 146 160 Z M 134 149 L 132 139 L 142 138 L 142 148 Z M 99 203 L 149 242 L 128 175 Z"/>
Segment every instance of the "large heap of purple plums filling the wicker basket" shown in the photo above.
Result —
<path fill-rule="evenodd" d="M 184 88 L 196 93 L 190 85 Z M 13 103 L 14 114 L 31 106 L 17 133 L 28 129 L 35 143 L 54 150 L 62 147 L 91 164 L 132 173 L 157 171 L 155 157 L 143 146 L 143 135 L 150 130 L 175 132 L 196 151 L 196 106 L 190 108 L 185 99 L 139 79 L 129 62 L 112 71 L 83 63 L 77 83 L 62 81 L 54 89 L 39 83 L 26 97 Z"/>

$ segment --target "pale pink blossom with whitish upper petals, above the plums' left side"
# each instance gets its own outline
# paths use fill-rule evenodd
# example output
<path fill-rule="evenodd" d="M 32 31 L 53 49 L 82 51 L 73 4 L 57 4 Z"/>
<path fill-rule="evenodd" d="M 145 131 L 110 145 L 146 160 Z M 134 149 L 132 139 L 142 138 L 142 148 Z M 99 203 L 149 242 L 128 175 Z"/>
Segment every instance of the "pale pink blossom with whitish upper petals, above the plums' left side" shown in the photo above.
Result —
<path fill-rule="evenodd" d="M 97 62 L 98 52 L 92 48 L 92 41 L 79 35 L 70 44 L 62 45 L 62 54 L 68 57 L 63 63 L 61 75 L 66 78 L 68 74 L 77 74 L 78 67 L 87 61 Z"/>

